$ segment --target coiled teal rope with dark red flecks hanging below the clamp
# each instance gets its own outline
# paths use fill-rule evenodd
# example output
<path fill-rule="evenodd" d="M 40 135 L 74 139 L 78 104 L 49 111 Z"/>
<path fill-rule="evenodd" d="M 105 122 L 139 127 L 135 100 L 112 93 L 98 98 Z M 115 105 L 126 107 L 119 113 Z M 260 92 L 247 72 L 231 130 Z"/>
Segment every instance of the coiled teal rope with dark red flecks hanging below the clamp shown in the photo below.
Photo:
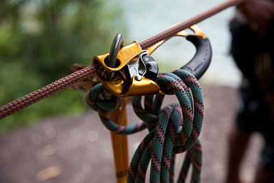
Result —
<path fill-rule="evenodd" d="M 98 84 L 88 93 L 88 105 L 97 110 L 108 130 L 117 134 L 132 134 L 148 127 L 149 134 L 140 143 L 132 158 L 127 182 L 145 182 L 147 167 L 151 160 L 150 182 L 173 182 L 175 154 L 187 151 L 177 182 L 184 182 L 192 164 L 191 182 L 200 182 L 201 143 L 198 137 L 203 122 L 203 95 L 194 75 L 179 69 L 172 73 L 160 73 L 156 82 L 162 88 L 169 88 L 179 103 L 172 103 L 162 110 L 164 95 L 134 97 L 134 112 L 143 121 L 130 126 L 116 125 L 110 121 L 108 112 L 119 109 L 121 99 L 103 98 L 102 86 Z M 192 95 L 190 94 L 190 90 Z"/>

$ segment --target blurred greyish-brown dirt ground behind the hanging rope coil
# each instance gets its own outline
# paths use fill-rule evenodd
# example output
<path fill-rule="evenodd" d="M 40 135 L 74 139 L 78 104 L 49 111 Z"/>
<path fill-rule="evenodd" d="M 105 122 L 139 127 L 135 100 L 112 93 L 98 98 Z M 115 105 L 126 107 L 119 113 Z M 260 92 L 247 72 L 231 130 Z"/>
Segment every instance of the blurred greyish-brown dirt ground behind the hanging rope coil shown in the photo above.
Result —
<path fill-rule="evenodd" d="M 238 105 L 237 90 L 203 86 L 203 93 L 206 112 L 200 136 L 203 145 L 201 180 L 222 182 L 227 132 Z M 166 97 L 164 102 L 173 101 L 175 97 Z M 139 121 L 132 106 L 128 105 L 127 109 L 129 123 Z M 146 130 L 129 136 L 129 157 L 145 134 Z M 0 183 L 116 182 L 110 142 L 110 132 L 91 110 L 79 117 L 51 117 L 1 135 Z M 262 139 L 256 134 L 242 167 L 245 180 L 253 177 L 261 146 Z M 182 154 L 177 156 L 177 171 L 183 157 Z"/>

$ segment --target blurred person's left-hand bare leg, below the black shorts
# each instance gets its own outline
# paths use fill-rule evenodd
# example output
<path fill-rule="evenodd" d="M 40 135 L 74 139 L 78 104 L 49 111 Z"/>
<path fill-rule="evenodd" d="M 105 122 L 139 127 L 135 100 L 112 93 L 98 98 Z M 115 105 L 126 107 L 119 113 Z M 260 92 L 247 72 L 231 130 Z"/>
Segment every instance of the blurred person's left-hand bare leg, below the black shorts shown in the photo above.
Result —
<path fill-rule="evenodd" d="M 228 138 L 227 172 L 225 183 L 240 183 L 240 164 L 247 149 L 251 132 L 232 127 Z"/>

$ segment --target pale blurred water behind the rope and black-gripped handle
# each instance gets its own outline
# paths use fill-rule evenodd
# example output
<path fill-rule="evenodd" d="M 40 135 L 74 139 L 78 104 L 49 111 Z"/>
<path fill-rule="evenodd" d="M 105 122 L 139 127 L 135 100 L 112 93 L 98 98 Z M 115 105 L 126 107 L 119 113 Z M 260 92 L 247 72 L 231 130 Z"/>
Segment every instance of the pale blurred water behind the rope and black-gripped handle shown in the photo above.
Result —
<path fill-rule="evenodd" d="M 200 12 L 223 2 L 220 0 L 173 0 L 130 1 L 124 0 L 123 9 L 127 24 L 126 42 L 140 42 L 162 32 L 171 25 L 185 21 Z M 229 55 L 230 34 L 228 23 L 234 16 L 229 8 L 199 23 L 212 44 L 212 64 L 202 77 L 206 84 L 236 87 L 240 83 L 240 71 Z M 160 47 L 153 56 L 158 62 L 169 62 L 173 69 L 186 64 L 195 53 L 195 47 L 183 38 L 172 38 Z"/>

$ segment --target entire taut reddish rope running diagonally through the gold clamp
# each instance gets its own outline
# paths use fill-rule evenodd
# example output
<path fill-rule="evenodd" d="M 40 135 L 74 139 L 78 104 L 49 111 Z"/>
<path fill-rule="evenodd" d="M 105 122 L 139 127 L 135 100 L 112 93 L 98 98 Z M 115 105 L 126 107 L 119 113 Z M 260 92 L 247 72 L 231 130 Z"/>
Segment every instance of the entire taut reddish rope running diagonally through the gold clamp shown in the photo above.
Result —
<path fill-rule="evenodd" d="M 140 42 L 139 45 L 142 49 L 147 49 L 148 47 L 155 45 L 157 42 L 160 42 L 161 40 L 164 40 L 166 38 L 170 38 L 177 32 L 180 32 L 183 29 L 186 29 L 187 27 L 194 25 L 195 23 L 199 23 L 200 21 L 203 21 L 204 19 L 207 19 L 208 17 L 218 12 L 221 12 L 226 8 L 229 8 L 233 5 L 238 5 L 243 1 L 245 0 L 227 0 L 223 3 L 220 3 L 219 5 L 216 5 L 214 8 L 207 10 L 206 12 L 202 12 L 201 14 L 198 14 L 197 16 L 194 16 L 191 19 L 188 19 L 187 21 L 171 26 L 169 29 L 164 30 L 160 34 L 157 34 L 151 38 L 148 38 L 147 40 Z M 80 71 L 72 73 L 71 75 L 63 77 L 62 79 L 53 82 L 43 88 L 40 88 L 19 99 L 7 103 L 4 106 L 0 107 L 0 120 L 20 110 L 23 110 L 27 106 L 30 106 L 42 99 L 45 99 L 55 93 L 58 93 L 64 90 L 65 88 L 73 86 L 73 84 L 76 84 L 77 82 L 82 82 L 86 80 L 88 77 L 92 77 L 92 75 L 94 75 L 97 72 L 97 66 L 87 66 L 86 68 Z"/>

